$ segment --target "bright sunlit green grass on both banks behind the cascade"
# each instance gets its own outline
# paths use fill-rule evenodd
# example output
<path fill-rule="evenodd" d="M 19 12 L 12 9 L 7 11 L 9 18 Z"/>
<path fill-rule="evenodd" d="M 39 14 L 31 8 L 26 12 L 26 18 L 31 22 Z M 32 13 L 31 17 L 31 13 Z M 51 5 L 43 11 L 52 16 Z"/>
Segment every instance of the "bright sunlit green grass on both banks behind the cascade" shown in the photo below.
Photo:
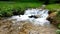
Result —
<path fill-rule="evenodd" d="M 0 8 L 3 10 L 21 8 L 25 9 L 26 7 L 40 7 L 42 3 L 36 2 L 0 2 Z M 46 6 L 47 9 L 60 9 L 60 4 L 49 4 Z"/>

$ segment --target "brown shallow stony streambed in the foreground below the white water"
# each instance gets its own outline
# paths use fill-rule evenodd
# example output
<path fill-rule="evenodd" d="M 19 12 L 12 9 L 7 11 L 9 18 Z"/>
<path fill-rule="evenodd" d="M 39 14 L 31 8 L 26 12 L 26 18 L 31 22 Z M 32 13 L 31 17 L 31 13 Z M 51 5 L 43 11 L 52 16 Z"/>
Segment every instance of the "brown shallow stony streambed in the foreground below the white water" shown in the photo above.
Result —
<path fill-rule="evenodd" d="M 0 34 L 56 34 L 54 25 L 43 27 L 28 22 L 14 22 L 12 20 L 0 20 Z"/>

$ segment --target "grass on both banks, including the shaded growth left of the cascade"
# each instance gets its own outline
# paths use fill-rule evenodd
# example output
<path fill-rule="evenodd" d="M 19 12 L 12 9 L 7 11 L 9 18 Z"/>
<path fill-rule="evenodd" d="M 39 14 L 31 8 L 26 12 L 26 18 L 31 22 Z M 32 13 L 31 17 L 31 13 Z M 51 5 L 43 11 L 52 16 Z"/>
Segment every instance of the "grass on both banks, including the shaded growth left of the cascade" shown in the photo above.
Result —
<path fill-rule="evenodd" d="M 23 13 L 28 7 L 38 8 L 43 5 L 41 2 L 3 2 L 0 1 L 0 16 L 12 16 L 15 13 Z M 60 9 L 60 4 L 49 4 L 46 6 L 47 9 Z M 14 11 L 12 11 L 14 10 Z"/>

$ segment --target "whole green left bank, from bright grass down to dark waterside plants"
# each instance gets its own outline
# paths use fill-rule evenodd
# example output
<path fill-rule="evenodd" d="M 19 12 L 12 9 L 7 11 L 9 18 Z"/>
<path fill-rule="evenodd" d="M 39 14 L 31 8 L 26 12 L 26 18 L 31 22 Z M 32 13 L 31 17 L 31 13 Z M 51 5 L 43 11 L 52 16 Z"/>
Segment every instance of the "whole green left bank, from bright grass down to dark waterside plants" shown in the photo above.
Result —
<path fill-rule="evenodd" d="M 0 2 L 0 16 L 8 17 L 23 14 L 28 7 L 40 7 L 42 3 Z"/>

